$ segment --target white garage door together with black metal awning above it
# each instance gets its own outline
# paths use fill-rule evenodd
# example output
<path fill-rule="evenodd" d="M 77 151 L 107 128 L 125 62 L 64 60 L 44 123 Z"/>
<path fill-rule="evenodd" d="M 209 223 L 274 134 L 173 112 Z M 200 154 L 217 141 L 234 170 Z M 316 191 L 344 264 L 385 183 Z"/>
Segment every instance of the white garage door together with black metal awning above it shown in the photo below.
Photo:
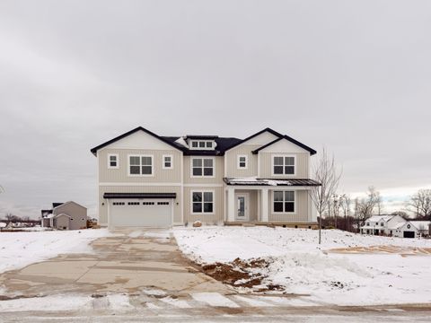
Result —
<path fill-rule="evenodd" d="M 175 193 L 105 193 L 110 227 L 172 226 Z"/>

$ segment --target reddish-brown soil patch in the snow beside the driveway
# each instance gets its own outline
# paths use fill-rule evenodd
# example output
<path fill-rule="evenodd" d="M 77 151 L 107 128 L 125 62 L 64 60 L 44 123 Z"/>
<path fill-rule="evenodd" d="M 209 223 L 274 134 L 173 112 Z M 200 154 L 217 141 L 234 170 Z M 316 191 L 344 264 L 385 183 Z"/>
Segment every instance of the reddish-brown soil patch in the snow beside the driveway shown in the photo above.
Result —
<path fill-rule="evenodd" d="M 219 282 L 230 284 L 233 287 L 254 288 L 261 285 L 266 275 L 253 272 L 254 268 L 268 267 L 269 264 L 265 259 L 257 258 L 250 261 L 244 261 L 236 258 L 230 263 L 209 264 L 202 266 L 202 271 L 213 277 Z M 257 292 L 281 291 L 283 288 L 277 284 L 266 284 L 265 287 L 259 288 Z"/>

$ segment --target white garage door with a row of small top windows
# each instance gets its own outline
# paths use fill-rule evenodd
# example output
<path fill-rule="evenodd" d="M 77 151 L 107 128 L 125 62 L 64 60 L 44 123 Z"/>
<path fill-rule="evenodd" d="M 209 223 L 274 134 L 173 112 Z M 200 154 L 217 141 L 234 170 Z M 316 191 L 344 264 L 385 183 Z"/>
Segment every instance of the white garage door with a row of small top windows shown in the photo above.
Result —
<path fill-rule="evenodd" d="M 111 227 L 160 227 L 172 225 L 170 199 L 112 199 Z"/>

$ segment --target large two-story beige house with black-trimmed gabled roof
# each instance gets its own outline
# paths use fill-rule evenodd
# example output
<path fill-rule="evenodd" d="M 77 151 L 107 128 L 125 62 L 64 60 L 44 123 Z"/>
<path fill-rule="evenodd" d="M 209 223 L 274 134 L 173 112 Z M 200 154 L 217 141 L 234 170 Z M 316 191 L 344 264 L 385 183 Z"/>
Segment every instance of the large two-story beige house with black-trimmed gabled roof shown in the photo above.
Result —
<path fill-rule="evenodd" d="M 104 226 L 316 223 L 309 195 L 319 185 L 309 179 L 316 152 L 270 128 L 238 139 L 137 127 L 91 152 Z"/>

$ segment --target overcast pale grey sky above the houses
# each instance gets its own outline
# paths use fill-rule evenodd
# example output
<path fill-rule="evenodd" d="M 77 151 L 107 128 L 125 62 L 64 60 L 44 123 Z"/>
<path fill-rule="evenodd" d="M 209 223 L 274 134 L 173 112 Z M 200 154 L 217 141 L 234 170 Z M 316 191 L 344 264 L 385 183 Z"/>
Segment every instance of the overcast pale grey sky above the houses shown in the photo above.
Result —
<path fill-rule="evenodd" d="M 96 204 L 90 149 L 134 127 L 263 127 L 374 185 L 431 187 L 430 1 L 0 2 L 0 217 Z"/>

